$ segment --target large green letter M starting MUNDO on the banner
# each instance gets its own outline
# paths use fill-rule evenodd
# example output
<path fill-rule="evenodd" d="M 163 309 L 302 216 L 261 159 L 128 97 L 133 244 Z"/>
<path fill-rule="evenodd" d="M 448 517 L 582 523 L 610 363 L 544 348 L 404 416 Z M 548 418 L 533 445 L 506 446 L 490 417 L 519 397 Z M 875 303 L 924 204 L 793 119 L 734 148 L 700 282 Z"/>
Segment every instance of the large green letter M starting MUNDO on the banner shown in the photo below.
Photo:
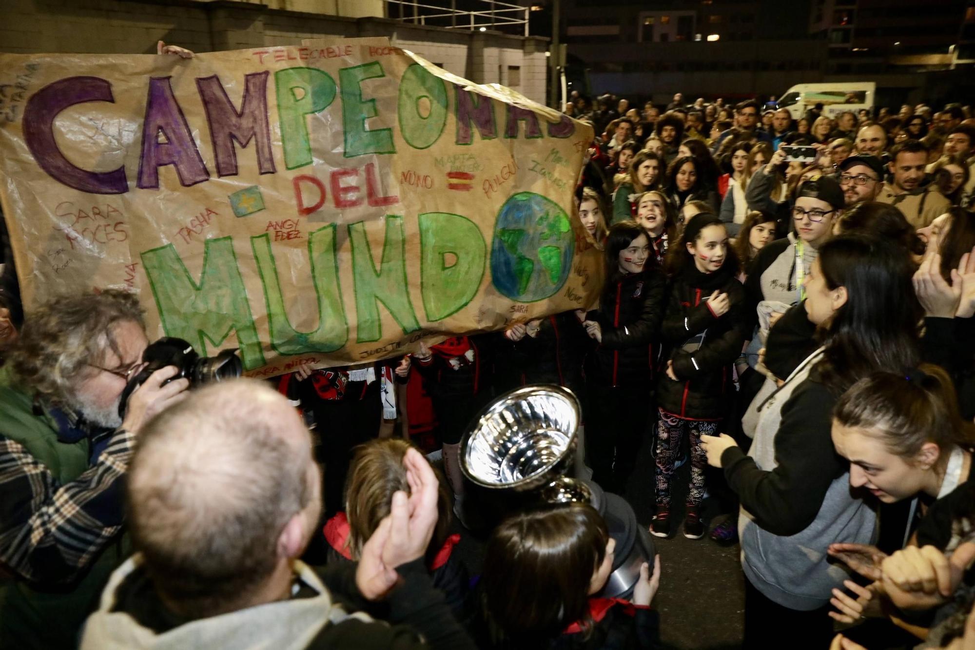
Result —
<path fill-rule="evenodd" d="M 173 244 L 142 253 L 142 264 L 167 336 L 185 339 L 205 356 L 207 342 L 216 347 L 234 331 L 244 367 L 251 370 L 264 365 L 230 237 L 207 240 L 199 284 L 190 277 Z"/>

